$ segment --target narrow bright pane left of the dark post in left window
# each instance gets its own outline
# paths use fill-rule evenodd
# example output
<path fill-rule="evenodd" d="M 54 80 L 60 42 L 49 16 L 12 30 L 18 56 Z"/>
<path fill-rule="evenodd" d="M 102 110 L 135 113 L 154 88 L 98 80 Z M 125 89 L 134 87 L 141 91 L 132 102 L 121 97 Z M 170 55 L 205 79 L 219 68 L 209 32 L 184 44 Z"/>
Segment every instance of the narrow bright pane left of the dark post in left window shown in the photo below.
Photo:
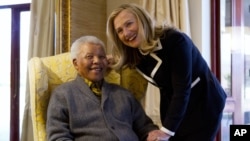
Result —
<path fill-rule="evenodd" d="M 0 17 L 5 17 L 5 20 L 0 22 L 0 31 L 4 34 L 0 34 L 1 52 L 0 52 L 0 65 L 4 66 L 4 69 L 0 69 L 0 113 L 5 113 L 0 120 L 0 140 L 7 141 L 9 135 L 10 124 L 10 47 L 11 47 L 11 17 L 10 9 L 0 10 Z"/>

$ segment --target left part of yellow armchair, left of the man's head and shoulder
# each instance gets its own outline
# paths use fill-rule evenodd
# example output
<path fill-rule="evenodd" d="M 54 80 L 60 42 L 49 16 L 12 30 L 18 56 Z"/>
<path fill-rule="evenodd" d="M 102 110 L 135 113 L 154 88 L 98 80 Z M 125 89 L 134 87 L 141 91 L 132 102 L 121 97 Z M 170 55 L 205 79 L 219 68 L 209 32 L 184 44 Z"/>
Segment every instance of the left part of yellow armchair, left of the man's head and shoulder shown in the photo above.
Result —
<path fill-rule="evenodd" d="M 70 54 L 33 57 L 28 63 L 30 107 L 35 141 L 46 141 L 47 106 L 51 91 L 63 82 L 73 80 L 76 70 Z"/>

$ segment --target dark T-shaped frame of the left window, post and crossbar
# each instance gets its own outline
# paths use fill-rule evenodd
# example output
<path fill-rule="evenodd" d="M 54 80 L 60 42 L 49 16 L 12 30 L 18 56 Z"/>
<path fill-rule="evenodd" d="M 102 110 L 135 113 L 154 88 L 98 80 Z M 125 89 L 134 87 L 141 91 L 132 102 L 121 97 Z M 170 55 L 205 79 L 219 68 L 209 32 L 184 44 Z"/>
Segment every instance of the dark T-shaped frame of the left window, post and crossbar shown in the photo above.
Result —
<path fill-rule="evenodd" d="M 30 11 L 30 3 L 3 5 L 0 9 L 11 9 L 11 59 L 10 59 L 10 141 L 19 141 L 19 97 L 20 97 L 20 15 Z"/>

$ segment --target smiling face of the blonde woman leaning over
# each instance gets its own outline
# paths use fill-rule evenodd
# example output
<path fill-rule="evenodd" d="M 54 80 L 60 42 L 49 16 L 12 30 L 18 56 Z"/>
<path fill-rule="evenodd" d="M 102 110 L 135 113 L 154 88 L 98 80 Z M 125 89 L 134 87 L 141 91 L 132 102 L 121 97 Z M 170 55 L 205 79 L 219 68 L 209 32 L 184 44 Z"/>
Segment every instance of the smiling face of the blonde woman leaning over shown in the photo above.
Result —
<path fill-rule="evenodd" d="M 114 29 L 119 39 L 127 46 L 138 48 L 141 44 L 138 21 L 128 10 L 121 11 L 114 19 Z"/>

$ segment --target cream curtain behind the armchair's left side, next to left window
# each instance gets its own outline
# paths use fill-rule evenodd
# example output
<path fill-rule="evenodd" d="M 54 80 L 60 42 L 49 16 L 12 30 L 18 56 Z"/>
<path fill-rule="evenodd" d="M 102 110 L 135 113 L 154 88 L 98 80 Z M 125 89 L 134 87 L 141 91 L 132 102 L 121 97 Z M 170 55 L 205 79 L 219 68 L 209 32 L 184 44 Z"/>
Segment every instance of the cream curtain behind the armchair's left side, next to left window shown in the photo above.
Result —
<path fill-rule="evenodd" d="M 29 56 L 45 57 L 53 55 L 54 48 L 54 0 L 32 0 L 29 37 Z M 33 141 L 33 129 L 30 113 L 29 82 L 26 87 L 24 117 L 22 121 L 21 141 Z"/>

